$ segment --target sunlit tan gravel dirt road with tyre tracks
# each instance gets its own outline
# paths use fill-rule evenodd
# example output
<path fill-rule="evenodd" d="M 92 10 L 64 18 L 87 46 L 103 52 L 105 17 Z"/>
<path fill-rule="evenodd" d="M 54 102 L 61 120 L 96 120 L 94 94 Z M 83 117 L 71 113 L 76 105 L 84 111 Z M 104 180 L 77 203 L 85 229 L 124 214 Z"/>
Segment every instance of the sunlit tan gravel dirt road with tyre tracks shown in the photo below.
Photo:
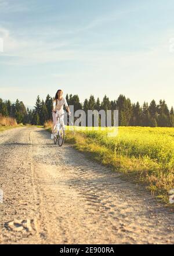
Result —
<path fill-rule="evenodd" d="M 0 243 L 174 243 L 174 214 L 37 127 L 0 133 Z"/>

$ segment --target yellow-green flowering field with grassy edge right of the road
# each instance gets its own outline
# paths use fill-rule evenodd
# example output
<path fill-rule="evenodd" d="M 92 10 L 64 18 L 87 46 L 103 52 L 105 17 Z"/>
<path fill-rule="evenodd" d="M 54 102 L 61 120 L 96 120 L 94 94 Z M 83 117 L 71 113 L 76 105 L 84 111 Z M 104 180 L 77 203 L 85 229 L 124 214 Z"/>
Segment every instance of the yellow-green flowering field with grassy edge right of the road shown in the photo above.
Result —
<path fill-rule="evenodd" d="M 174 188 L 174 128 L 119 127 L 116 137 L 105 131 L 66 131 L 66 142 L 90 157 L 146 184 L 151 193 L 168 202 Z"/>

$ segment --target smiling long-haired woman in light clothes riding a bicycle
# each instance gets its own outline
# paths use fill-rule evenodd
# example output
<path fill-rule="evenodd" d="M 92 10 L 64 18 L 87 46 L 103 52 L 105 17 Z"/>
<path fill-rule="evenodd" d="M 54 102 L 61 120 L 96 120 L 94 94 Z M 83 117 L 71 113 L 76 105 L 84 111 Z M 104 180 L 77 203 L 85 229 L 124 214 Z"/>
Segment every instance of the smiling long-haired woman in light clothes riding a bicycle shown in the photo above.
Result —
<path fill-rule="evenodd" d="M 54 127 L 55 127 L 56 121 L 57 121 L 56 120 L 56 111 L 59 111 L 59 115 L 63 114 L 64 113 L 63 105 L 66 106 L 66 110 L 70 114 L 70 109 L 68 107 L 67 100 L 66 100 L 66 98 L 63 98 L 63 91 L 58 90 L 56 95 L 55 95 L 55 98 L 53 99 L 53 109 L 52 109 L 53 126 L 52 126 L 52 136 L 51 136 L 51 138 L 54 138 L 53 137 L 53 130 L 54 130 Z M 61 118 L 62 118 L 62 121 L 63 121 L 63 116 L 61 116 Z M 64 121 L 63 121 L 63 125 L 64 125 Z"/>

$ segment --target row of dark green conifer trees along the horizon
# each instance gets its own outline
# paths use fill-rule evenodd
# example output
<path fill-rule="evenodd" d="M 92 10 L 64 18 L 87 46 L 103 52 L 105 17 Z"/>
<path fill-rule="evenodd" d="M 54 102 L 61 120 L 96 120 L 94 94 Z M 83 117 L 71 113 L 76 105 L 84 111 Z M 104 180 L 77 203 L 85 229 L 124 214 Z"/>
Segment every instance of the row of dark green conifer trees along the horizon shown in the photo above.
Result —
<path fill-rule="evenodd" d="M 144 102 L 140 106 L 139 102 L 132 103 L 129 98 L 119 95 L 114 101 L 105 95 L 102 102 L 100 99 L 90 95 L 89 99 L 84 102 L 79 101 L 78 95 L 66 95 L 68 105 L 74 105 L 74 112 L 77 109 L 83 109 L 88 113 L 88 109 L 100 111 L 104 109 L 118 109 L 119 126 L 151 126 L 151 127 L 174 127 L 174 111 L 173 107 L 168 108 L 164 100 L 160 100 L 158 104 L 153 99 L 150 104 Z M 15 103 L 10 100 L 3 101 L 0 98 L 0 114 L 15 118 L 17 123 L 28 123 L 31 125 L 44 125 L 45 121 L 52 119 L 52 100 L 48 94 L 45 101 L 37 97 L 34 109 L 26 109 L 26 106 L 19 99 Z"/>

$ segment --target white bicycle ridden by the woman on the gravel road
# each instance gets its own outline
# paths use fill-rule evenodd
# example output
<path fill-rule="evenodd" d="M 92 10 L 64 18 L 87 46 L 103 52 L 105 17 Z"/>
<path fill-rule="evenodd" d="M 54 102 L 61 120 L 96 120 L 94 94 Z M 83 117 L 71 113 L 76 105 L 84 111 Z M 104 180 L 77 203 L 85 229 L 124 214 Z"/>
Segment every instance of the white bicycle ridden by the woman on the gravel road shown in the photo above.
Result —
<path fill-rule="evenodd" d="M 57 143 L 59 147 L 61 147 L 64 143 L 64 138 L 65 138 L 63 120 L 61 119 L 61 117 L 64 116 L 64 113 L 60 115 L 59 111 L 57 111 L 56 114 L 57 114 L 57 117 L 56 117 L 57 121 L 53 130 L 54 144 L 56 145 Z M 70 114 L 67 113 L 67 115 L 70 115 Z"/>

